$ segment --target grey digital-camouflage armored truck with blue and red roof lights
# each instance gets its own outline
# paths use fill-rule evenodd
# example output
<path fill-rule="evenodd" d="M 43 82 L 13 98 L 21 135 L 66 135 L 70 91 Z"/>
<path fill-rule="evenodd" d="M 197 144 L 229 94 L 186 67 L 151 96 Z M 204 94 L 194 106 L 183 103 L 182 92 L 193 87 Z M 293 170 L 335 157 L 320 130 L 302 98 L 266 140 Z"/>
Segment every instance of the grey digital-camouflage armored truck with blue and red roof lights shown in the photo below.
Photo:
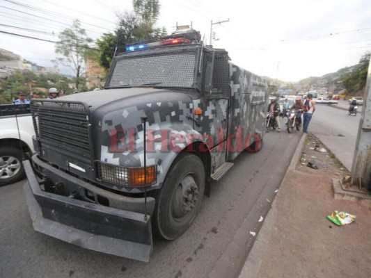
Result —
<path fill-rule="evenodd" d="M 104 89 L 31 101 L 29 212 L 43 234 L 149 261 L 152 232 L 181 236 L 212 180 L 262 147 L 267 82 L 191 30 L 128 44 Z"/>

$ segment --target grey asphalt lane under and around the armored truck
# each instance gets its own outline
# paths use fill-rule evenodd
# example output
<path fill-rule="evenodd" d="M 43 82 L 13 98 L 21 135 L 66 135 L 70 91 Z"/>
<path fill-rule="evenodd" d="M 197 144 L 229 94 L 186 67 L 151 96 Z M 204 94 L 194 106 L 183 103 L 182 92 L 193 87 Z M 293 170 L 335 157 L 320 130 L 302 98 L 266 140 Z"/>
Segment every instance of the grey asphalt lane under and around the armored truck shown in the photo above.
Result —
<path fill-rule="evenodd" d="M 284 124 L 283 124 L 284 126 Z M 0 277 L 232 277 L 244 256 L 223 253 L 247 220 L 258 231 L 270 208 L 301 132 L 271 131 L 256 154 L 241 154 L 212 186 L 192 227 L 173 242 L 155 240 L 150 263 L 101 254 L 33 231 L 22 192 L 24 181 L 0 188 Z M 246 252 L 252 236 L 246 236 Z M 223 270 L 228 269 L 228 276 Z"/>

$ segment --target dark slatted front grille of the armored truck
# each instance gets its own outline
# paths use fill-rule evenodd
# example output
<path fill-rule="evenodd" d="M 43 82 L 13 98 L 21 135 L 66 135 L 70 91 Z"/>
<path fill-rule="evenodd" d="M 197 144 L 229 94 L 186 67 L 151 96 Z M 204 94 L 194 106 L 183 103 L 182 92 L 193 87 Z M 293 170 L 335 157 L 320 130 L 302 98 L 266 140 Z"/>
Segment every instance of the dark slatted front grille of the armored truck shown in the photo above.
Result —
<path fill-rule="evenodd" d="M 32 101 L 31 114 L 36 136 L 42 142 L 84 156 L 91 155 L 88 115 L 84 104 Z"/>

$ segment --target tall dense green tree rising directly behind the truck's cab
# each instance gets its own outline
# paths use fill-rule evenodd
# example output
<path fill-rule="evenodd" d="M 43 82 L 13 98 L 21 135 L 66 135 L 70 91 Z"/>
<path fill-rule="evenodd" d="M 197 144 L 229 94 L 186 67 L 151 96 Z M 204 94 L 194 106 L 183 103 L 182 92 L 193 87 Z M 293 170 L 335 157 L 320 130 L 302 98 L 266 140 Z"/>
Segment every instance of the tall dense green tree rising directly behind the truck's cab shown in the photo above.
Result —
<path fill-rule="evenodd" d="M 134 0 L 134 13 L 118 14 L 118 28 L 97 40 L 99 55 L 95 59 L 106 70 L 111 65 L 115 52 L 125 52 L 125 45 L 166 35 L 165 28 L 156 28 L 159 17 L 159 0 Z"/>

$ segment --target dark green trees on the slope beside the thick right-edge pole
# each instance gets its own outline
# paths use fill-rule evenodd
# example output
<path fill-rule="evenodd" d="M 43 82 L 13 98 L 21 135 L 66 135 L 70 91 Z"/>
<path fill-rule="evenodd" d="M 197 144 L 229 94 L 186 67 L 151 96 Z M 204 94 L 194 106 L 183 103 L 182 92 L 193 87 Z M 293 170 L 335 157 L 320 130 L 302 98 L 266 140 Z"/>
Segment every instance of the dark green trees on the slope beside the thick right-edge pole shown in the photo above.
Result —
<path fill-rule="evenodd" d="M 354 95 L 356 92 L 365 88 L 368 65 L 370 63 L 370 52 L 363 54 L 358 65 L 354 67 L 352 72 L 342 76 L 342 84 L 347 89 L 347 94 Z"/>

